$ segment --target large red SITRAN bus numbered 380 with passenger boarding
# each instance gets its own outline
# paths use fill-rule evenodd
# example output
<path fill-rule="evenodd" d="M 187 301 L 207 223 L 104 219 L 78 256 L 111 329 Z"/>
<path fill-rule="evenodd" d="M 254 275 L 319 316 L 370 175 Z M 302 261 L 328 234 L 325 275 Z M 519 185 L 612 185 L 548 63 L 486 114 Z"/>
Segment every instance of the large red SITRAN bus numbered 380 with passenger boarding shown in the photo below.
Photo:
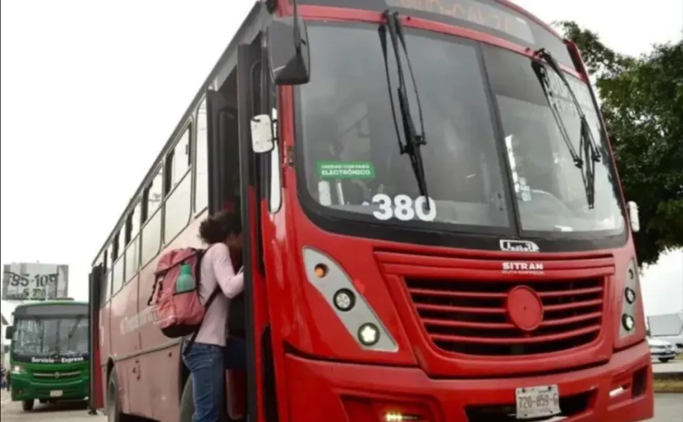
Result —
<path fill-rule="evenodd" d="M 653 415 L 633 232 L 574 43 L 503 0 L 255 4 L 92 265 L 92 407 L 191 420 L 147 307 L 244 221 L 227 417 Z"/>

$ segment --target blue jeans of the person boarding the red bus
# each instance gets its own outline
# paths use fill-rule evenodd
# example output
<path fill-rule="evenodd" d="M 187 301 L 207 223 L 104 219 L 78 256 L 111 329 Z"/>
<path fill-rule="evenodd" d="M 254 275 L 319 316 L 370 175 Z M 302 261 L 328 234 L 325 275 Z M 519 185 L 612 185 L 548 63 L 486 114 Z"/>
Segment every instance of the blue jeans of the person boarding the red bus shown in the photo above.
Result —
<path fill-rule="evenodd" d="M 183 351 L 185 346 L 182 345 Z M 242 339 L 231 337 L 226 346 L 195 343 L 187 355 L 185 366 L 192 374 L 194 422 L 219 422 L 225 397 L 225 370 L 246 369 L 246 347 Z"/>

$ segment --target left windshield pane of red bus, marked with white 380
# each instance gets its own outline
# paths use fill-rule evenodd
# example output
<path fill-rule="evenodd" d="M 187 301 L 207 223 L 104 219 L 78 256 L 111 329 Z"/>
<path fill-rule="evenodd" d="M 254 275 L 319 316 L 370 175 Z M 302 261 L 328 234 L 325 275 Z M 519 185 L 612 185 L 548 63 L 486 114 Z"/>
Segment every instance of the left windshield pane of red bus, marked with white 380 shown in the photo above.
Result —
<path fill-rule="evenodd" d="M 387 83 L 388 70 L 395 95 L 390 42 L 385 67 L 377 25 L 312 24 L 308 36 L 315 73 L 299 89 L 300 141 L 308 192 L 319 204 L 355 218 L 401 224 L 457 224 L 465 231 L 509 226 L 476 44 L 406 28 L 423 116 L 417 105 L 411 112 L 424 126 L 420 151 L 434 201 L 425 207 L 410 156 L 399 149 L 404 136 L 395 128 Z M 395 115 L 400 127 L 398 109 Z"/>

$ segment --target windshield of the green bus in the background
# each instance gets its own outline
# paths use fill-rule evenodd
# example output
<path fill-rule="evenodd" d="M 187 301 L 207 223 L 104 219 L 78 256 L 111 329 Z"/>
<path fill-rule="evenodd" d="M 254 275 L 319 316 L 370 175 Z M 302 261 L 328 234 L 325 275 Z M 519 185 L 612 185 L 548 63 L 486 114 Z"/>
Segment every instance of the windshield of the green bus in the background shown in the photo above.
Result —
<path fill-rule="evenodd" d="M 12 352 L 26 357 L 87 355 L 88 328 L 87 315 L 23 317 L 15 324 Z"/>

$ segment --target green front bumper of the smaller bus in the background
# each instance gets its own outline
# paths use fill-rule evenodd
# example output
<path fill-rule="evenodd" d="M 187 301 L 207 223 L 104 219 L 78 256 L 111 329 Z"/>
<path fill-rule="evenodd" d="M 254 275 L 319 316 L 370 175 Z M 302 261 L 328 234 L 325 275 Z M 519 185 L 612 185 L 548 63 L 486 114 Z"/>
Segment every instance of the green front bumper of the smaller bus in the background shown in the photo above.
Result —
<path fill-rule="evenodd" d="M 88 396 L 90 381 L 85 378 L 63 383 L 40 383 L 16 376 L 12 378 L 10 387 L 12 401 L 81 400 Z"/>

